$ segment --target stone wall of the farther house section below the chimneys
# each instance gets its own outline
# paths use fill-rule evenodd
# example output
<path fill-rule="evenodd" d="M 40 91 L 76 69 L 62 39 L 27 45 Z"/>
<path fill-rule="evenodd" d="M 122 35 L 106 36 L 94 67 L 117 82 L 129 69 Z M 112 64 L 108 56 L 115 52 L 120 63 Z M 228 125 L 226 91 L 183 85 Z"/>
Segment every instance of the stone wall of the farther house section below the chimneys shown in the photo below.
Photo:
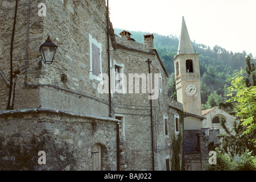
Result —
<path fill-rule="evenodd" d="M 179 115 L 177 110 L 182 110 L 182 105 L 172 101 L 167 94 L 168 75 L 160 64 L 160 61 L 154 51 L 145 46 L 115 36 L 117 49 L 112 51 L 112 67 L 114 63 L 123 65 L 123 73 L 127 77 L 126 94 L 113 94 L 115 114 L 121 114 L 125 117 L 125 138 L 122 142 L 121 163 L 123 170 L 152 170 L 152 138 L 154 147 L 154 166 L 155 170 L 166 170 L 166 159 L 172 158 L 172 138 L 175 133 L 174 115 Z M 151 125 L 151 106 L 148 93 L 142 93 L 142 81 L 140 81 L 139 93 L 129 92 L 129 73 L 141 75 L 144 73 L 147 77 L 149 73 L 148 63 L 152 61 L 150 72 L 159 73 L 162 80 L 162 88 L 159 89 L 159 96 L 152 100 L 153 126 Z M 133 82 L 135 85 L 135 80 Z M 147 86 L 149 86 L 147 84 Z M 135 86 L 134 86 L 135 87 Z M 154 88 L 154 80 L 152 82 Z M 154 95 L 155 93 L 152 93 Z M 169 107 L 172 106 L 172 107 Z M 168 118 L 169 137 L 164 136 L 164 117 Z M 152 126 L 152 129 L 151 129 Z M 180 125 L 180 131 L 183 127 Z"/>

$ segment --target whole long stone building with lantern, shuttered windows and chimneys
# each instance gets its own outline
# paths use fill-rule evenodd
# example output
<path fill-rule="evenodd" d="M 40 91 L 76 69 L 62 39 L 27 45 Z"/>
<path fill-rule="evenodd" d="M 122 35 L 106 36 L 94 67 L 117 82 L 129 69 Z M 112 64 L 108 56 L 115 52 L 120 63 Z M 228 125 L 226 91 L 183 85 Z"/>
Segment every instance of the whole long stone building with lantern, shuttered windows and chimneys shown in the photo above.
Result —
<path fill-rule="evenodd" d="M 167 96 L 154 35 L 115 35 L 101 0 L 0 3 L 1 170 L 181 168 L 183 105 Z M 39 51 L 48 36 L 53 64 Z"/>

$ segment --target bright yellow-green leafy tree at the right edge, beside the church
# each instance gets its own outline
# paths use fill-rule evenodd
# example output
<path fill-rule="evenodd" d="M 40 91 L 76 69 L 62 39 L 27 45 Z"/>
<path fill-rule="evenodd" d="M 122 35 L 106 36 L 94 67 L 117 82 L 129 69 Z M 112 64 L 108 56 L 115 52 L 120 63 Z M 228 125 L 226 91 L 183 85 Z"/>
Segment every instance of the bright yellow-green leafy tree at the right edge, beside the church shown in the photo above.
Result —
<path fill-rule="evenodd" d="M 234 121 L 232 130 L 228 130 L 224 121 L 221 121 L 221 126 L 227 133 L 218 136 L 222 138 L 222 151 L 230 152 L 234 156 L 250 150 L 252 155 L 256 155 L 256 86 L 246 86 L 243 70 L 236 73 L 230 81 L 230 99 L 226 103 L 220 103 L 219 107 L 229 107 L 237 121 Z"/>

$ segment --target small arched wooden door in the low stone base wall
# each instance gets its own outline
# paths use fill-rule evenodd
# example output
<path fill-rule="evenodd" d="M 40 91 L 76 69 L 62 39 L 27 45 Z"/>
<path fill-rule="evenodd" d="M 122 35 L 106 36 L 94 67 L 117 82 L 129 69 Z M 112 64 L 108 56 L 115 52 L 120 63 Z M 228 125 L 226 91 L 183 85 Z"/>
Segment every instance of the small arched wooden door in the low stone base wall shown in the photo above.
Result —
<path fill-rule="evenodd" d="M 102 151 L 99 144 L 92 148 L 92 170 L 102 171 Z"/>

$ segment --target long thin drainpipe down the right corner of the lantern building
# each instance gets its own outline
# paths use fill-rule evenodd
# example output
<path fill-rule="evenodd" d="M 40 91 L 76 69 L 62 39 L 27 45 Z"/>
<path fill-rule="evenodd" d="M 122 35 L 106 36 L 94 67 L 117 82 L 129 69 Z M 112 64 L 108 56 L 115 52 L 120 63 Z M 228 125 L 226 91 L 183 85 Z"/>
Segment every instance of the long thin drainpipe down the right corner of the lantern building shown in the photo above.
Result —
<path fill-rule="evenodd" d="M 109 0 L 107 0 L 107 26 L 108 26 L 108 63 L 109 63 L 109 117 L 112 117 L 111 77 L 110 77 L 110 43 L 109 43 Z"/>

